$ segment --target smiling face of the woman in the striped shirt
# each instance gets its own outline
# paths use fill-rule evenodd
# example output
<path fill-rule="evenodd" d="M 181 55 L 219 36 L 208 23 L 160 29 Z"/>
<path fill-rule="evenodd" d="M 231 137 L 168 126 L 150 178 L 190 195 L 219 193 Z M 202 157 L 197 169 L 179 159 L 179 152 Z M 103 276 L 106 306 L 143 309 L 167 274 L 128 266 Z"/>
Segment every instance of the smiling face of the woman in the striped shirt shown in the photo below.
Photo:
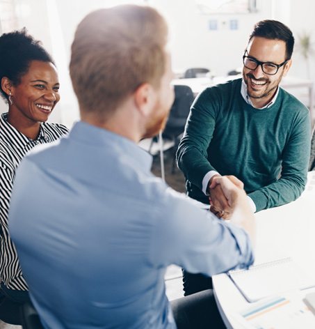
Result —
<path fill-rule="evenodd" d="M 59 80 L 54 64 L 32 61 L 29 72 L 12 89 L 13 105 L 21 121 L 45 122 L 60 100 Z M 16 117 L 16 116 L 15 116 Z"/>

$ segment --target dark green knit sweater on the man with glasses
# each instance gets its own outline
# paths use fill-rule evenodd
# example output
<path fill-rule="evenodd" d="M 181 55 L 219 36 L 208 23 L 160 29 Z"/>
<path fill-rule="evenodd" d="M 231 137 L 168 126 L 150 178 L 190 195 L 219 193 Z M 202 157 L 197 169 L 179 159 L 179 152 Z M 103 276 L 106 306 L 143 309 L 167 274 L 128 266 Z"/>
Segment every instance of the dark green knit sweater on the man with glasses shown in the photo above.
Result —
<path fill-rule="evenodd" d="M 186 177 L 189 197 L 209 203 L 202 179 L 216 170 L 243 181 L 261 211 L 297 199 L 305 188 L 309 111 L 282 88 L 273 105 L 256 109 L 243 99 L 241 82 L 236 79 L 198 95 L 179 144 L 177 164 Z"/>

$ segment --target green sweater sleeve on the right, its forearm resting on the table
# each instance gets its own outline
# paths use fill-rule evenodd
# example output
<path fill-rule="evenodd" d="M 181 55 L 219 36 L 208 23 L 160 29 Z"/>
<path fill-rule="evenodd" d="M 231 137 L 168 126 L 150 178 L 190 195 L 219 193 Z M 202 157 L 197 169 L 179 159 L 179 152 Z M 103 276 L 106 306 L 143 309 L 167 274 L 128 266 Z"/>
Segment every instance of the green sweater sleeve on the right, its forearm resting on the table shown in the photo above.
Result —
<path fill-rule="evenodd" d="M 311 144 L 309 113 L 301 110 L 300 116 L 291 124 L 291 135 L 287 137 L 282 153 L 280 178 L 248 194 L 255 202 L 256 211 L 294 201 L 305 189 Z"/>

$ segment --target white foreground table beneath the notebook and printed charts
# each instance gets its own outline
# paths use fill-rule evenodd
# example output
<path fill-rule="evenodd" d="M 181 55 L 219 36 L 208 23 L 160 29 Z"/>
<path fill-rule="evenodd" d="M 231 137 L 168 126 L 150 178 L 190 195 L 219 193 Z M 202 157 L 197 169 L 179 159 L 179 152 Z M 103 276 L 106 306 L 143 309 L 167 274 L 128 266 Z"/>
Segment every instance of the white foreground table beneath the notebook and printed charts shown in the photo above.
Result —
<path fill-rule="evenodd" d="M 256 260 L 264 263 L 291 257 L 315 275 L 315 171 L 308 174 L 301 197 L 284 206 L 255 214 L 257 222 Z M 249 305 L 232 280 L 223 273 L 212 278 L 216 302 L 227 328 L 244 328 L 233 314 Z M 315 290 L 315 289 L 312 289 Z M 302 298 L 307 291 L 300 291 Z"/>

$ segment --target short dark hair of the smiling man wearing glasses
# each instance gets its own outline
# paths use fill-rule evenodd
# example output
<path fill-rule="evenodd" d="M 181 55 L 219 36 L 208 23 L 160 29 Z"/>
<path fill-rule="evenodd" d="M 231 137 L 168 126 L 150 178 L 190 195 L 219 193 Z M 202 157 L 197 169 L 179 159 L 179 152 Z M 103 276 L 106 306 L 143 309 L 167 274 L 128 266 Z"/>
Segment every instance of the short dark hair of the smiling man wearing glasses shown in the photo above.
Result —
<path fill-rule="evenodd" d="M 263 20 L 255 24 L 250 40 L 253 37 L 260 36 L 271 40 L 282 40 L 286 43 L 286 60 L 291 59 L 294 46 L 294 38 L 288 26 L 276 20 Z M 250 41 L 249 40 L 249 41 Z"/>

